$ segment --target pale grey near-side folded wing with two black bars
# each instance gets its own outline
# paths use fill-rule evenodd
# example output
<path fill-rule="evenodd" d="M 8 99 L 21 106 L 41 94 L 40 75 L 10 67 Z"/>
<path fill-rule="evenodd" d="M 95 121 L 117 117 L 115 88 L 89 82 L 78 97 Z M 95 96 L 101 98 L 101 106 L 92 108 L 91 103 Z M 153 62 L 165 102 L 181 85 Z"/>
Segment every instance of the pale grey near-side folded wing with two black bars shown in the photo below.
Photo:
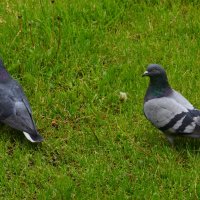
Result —
<path fill-rule="evenodd" d="M 188 109 L 169 97 L 145 102 L 144 112 L 147 119 L 164 132 L 188 134 L 196 127 L 196 122 Z"/>

